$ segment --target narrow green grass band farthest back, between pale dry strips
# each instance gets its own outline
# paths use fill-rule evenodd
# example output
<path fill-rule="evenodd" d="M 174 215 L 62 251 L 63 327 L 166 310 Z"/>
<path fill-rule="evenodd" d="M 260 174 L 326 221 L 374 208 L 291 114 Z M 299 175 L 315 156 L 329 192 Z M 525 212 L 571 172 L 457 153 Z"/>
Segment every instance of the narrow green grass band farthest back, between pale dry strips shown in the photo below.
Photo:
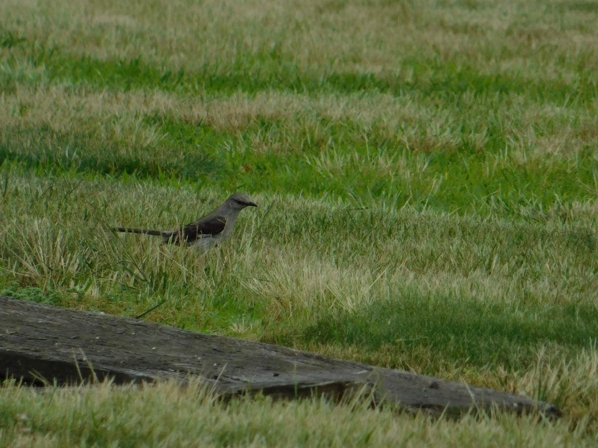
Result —
<path fill-rule="evenodd" d="M 588 106 L 593 103 L 598 89 L 596 76 L 590 72 L 590 67 L 584 66 L 579 68 L 588 78 L 571 84 L 564 80 L 530 80 L 517 72 L 480 73 L 475 66 L 436 57 L 410 56 L 401 61 L 402 69 L 410 73 L 409 79 L 405 79 L 401 73 L 343 72 L 334 67 L 306 70 L 292 61 L 291 53 L 277 51 L 274 44 L 271 49 L 240 51 L 230 62 L 207 63 L 199 71 L 188 73 L 182 67 L 173 72 L 167 67 L 146 63 L 141 54 L 127 59 L 99 60 L 68 54 L 63 48 L 46 48 L 42 42 L 15 38 L 10 32 L 4 37 L 8 42 L 5 46 L 23 48 L 26 61 L 33 69 L 43 67 L 48 84 L 66 82 L 75 87 L 89 85 L 99 90 L 161 90 L 196 96 L 230 95 L 238 91 L 255 94 L 264 90 L 296 94 L 376 91 L 396 97 L 427 97 L 440 104 L 452 103 L 463 94 L 471 94 L 476 99 L 523 94 L 539 103 L 560 105 L 572 102 Z M 5 78 L 7 88 L 16 87 L 17 79 L 13 76 Z"/>

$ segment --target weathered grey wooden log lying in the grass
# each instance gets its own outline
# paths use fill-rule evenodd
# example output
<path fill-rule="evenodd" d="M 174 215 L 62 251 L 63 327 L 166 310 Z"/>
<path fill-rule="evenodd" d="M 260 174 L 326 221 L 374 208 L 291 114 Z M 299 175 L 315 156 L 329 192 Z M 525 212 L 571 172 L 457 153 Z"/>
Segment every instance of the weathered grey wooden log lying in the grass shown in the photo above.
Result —
<path fill-rule="evenodd" d="M 523 395 L 343 361 L 266 343 L 0 297 L 0 372 L 29 383 L 115 383 L 199 376 L 216 393 L 342 397 L 365 389 L 405 410 L 460 415 L 493 407 L 561 415 Z"/>

